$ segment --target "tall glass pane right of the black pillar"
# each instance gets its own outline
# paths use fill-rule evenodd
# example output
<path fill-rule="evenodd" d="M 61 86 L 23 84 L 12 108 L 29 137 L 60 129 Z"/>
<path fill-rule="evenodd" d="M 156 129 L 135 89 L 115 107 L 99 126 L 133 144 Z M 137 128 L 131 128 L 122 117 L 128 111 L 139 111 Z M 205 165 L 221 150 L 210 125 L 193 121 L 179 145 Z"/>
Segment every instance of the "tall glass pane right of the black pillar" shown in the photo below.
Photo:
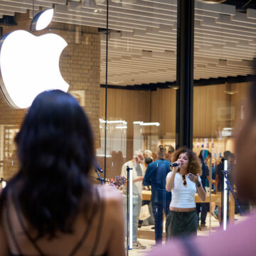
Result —
<path fill-rule="evenodd" d="M 235 124 L 242 119 L 242 102 L 255 72 L 255 19 L 251 16 L 255 6 L 227 2 L 196 1 L 195 9 L 193 151 L 201 155 L 209 202 L 197 205 L 201 211 L 198 235 L 223 225 L 223 159 L 228 159 L 228 179 L 237 197 L 232 174 Z M 236 213 L 230 192 L 230 222 L 239 218 Z"/>

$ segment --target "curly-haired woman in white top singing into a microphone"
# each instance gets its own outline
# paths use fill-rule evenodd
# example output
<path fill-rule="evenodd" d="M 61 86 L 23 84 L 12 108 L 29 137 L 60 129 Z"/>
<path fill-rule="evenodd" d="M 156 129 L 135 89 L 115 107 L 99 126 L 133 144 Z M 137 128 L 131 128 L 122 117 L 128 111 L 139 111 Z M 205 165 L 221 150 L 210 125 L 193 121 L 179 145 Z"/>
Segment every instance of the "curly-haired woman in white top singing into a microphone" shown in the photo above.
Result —
<path fill-rule="evenodd" d="M 195 193 L 202 201 L 206 200 L 206 191 L 201 185 L 201 165 L 196 154 L 183 147 L 174 152 L 172 162 L 178 166 L 166 176 L 166 191 L 172 193 L 166 217 L 166 239 L 196 233 L 198 215 Z"/>

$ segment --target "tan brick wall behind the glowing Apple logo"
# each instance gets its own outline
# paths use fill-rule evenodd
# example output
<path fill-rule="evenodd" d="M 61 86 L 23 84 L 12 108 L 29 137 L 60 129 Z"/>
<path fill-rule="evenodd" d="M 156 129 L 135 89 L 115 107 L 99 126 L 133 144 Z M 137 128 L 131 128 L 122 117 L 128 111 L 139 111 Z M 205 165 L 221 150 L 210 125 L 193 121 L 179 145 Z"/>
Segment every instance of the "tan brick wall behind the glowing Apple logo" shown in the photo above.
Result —
<path fill-rule="evenodd" d="M 23 29 L 29 31 L 31 20 L 28 14 L 16 14 L 17 26 L 3 26 L 4 34 Z M 97 28 L 50 23 L 49 29 L 38 31 L 56 33 L 67 41 L 68 46 L 60 56 L 60 73 L 70 85 L 73 94 L 84 108 L 95 134 L 95 147 L 99 146 L 100 114 L 100 36 Z M 16 173 L 18 162 L 14 154 L 13 138 L 26 110 L 11 108 L 0 94 L 0 177 L 9 179 Z"/>

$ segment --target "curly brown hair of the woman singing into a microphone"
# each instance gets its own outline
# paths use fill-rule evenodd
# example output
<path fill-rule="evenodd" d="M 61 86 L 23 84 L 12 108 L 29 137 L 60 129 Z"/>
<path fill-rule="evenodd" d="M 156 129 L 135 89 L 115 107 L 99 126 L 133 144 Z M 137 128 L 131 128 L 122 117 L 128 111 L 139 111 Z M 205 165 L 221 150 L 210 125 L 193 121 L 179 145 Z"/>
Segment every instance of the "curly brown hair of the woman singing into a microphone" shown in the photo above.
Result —
<path fill-rule="evenodd" d="M 171 156 L 171 161 L 177 161 L 178 156 L 180 154 L 186 153 L 188 155 L 188 170 L 187 173 L 191 173 L 193 175 L 199 174 L 201 176 L 202 169 L 201 169 L 201 162 L 198 159 L 198 156 L 196 156 L 196 153 L 194 153 L 191 149 L 188 149 L 186 147 L 182 147 L 174 151 L 174 153 Z"/>

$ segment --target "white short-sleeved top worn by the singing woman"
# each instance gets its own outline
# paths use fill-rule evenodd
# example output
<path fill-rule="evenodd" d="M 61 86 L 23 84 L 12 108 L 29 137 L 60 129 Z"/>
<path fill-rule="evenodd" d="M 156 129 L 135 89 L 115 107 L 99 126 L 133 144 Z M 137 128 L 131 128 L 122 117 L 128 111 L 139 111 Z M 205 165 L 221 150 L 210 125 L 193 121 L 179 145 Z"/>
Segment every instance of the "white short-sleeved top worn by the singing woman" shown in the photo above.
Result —
<path fill-rule="evenodd" d="M 166 178 L 170 178 L 171 171 L 167 174 Z M 194 208 L 196 207 L 195 193 L 196 183 L 191 181 L 187 176 L 186 186 L 183 185 L 183 179 L 179 172 L 176 173 L 174 178 L 174 188 L 171 190 L 171 207 L 176 208 Z M 201 178 L 198 177 L 201 181 Z"/>

